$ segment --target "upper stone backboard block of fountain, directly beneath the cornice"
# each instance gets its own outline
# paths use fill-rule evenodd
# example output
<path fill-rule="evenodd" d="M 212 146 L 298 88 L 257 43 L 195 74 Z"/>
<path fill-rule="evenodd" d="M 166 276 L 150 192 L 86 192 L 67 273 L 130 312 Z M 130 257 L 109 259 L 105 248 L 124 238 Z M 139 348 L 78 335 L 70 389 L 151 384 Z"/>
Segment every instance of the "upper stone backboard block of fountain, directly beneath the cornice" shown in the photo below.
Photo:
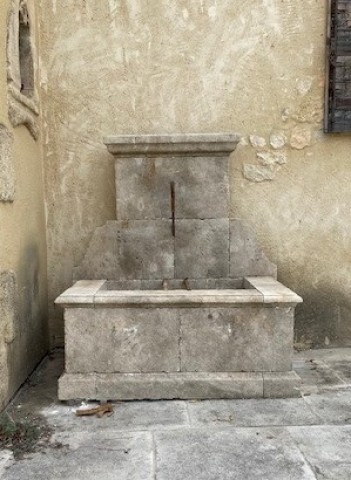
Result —
<path fill-rule="evenodd" d="M 225 218 L 228 157 L 125 158 L 116 161 L 117 218 Z"/>

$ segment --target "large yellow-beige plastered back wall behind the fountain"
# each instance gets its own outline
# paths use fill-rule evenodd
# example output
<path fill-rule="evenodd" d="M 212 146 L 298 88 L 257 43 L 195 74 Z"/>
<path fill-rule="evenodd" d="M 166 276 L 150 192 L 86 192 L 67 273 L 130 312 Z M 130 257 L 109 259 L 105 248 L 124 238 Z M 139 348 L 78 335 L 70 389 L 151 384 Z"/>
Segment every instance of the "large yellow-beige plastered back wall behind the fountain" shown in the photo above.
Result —
<path fill-rule="evenodd" d="M 326 3 L 40 0 L 50 304 L 115 218 L 103 135 L 238 132 L 231 216 L 304 297 L 297 342 L 351 344 L 351 137 L 322 133 Z"/>

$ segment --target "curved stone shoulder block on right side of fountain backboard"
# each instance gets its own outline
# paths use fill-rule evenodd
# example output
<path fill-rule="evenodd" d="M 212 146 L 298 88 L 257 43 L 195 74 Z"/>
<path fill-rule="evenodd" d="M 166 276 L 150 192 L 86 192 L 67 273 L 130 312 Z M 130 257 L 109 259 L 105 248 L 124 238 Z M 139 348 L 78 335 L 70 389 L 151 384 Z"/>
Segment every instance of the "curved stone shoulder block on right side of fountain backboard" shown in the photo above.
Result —
<path fill-rule="evenodd" d="M 230 276 L 271 276 L 277 278 L 277 266 L 264 254 L 256 234 L 240 220 L 230 220 Z"/>

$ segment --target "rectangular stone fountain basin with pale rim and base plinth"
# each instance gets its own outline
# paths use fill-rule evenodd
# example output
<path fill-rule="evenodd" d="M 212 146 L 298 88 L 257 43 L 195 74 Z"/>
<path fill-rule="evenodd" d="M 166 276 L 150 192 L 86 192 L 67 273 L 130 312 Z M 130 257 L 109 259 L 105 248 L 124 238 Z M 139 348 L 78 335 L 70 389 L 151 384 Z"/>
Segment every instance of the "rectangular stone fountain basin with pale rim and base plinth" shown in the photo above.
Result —
<path fill-rule="evenodd" d="M 163 286 L 164 283 L 163 283 Z M 272 277 L 79 281 L 65 310 L 59 398 L 94 400 L 287 397 L 295 306 Z"/>

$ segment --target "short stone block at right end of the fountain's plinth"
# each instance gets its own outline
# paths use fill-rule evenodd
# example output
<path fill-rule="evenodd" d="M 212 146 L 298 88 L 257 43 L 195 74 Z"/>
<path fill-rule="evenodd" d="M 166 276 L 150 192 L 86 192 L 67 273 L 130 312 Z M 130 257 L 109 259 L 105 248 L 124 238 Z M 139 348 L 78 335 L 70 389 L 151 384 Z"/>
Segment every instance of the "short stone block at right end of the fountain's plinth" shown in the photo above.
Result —
<path fill-rule="evenodd" d="M 301 379 L 296 372 L 264 372 L 265 398 L 299 397 Z"/>

